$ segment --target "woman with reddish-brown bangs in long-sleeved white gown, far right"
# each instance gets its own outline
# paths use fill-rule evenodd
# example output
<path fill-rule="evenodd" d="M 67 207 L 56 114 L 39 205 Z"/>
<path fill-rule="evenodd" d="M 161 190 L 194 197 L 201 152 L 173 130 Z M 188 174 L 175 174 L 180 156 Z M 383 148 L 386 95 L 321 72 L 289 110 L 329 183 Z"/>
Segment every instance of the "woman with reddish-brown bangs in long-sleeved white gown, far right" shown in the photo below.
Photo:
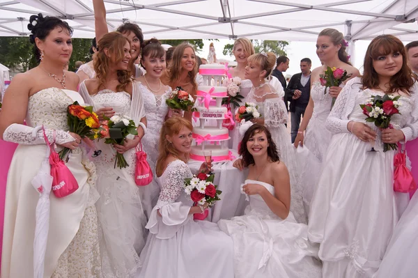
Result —
<path fill-rule="evenodd" d="M 390 35 L 372 40 L 364 75 L 347 82 L 326 126 L 334 133 L 309 213 L 309 239 L 320 243 L 323 277 L 369 278 L 378 270 L 409 194 L 394 192 L 396 144 L 418 136 L 418 84 L 405 48 Z M 360 105 L 371 95 L 401 95 L 394 129 L 366 124 Z M 376 140 L 376 141 L 375 141 Z M 371 150 L 371 141 L 374 148 Z"/>

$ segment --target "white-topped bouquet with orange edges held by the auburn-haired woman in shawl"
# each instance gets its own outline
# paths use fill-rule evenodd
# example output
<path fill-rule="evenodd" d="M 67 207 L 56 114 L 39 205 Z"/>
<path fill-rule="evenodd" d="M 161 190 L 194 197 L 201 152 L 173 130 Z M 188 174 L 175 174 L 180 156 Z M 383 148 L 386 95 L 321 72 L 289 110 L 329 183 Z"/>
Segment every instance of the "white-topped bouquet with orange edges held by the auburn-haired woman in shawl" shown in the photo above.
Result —
<path fill-rule="evenodd" d="M 132 118 L 126 115 L 114 115 L 111 118 L 104 118 L 106 121 L 102 122 L 102 132 L 100 137 L 104 138 L 106 144 L 118 144 L 123 145 L 128 134 L 138 135 L 137 126 Z M 116 153 L 115 168 L 116 165 L 120 169 L 129 166 L 122 153 Z"/>

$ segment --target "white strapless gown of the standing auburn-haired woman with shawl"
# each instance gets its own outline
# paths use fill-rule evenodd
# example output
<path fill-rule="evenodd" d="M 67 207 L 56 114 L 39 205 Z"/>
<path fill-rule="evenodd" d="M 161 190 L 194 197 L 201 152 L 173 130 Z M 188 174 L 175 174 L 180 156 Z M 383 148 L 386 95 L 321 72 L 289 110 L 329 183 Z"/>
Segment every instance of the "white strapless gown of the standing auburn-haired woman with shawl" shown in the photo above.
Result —
<path fill-rule="evenodd" d="M 137 85 L 134 82 L 132 95 L 140 95 Z M 80 84 L 79 90 L 95 111 L 112 107 L 115 115 L 132 114 L 131 107 L 134 104 L 129 93 L 105 89 L 95 95 L 88 95 L 85 82 Z M 142 102 L 135 105 L 143 107 Z M 134 121 L 137 123 L 137 119 Z M 123 154 L 129 166 L 119 169 L 115 167 L 114 147 L 104 144 L 104 140 L 95 141 L 95 145 L 102 150 L 98 157 L 93 158 L 93 162 L 98 169 L 97 187 L 100 199 L 96 207 L 101 230 L 99 235 L 103 277 L 134 277 L 141 266 L 138 254 L 145 245 L 146 224 L 141 199 L 143 192 L 140 191 L 142 188 L 134 181 L 136 150 L 132 148 Z"/>

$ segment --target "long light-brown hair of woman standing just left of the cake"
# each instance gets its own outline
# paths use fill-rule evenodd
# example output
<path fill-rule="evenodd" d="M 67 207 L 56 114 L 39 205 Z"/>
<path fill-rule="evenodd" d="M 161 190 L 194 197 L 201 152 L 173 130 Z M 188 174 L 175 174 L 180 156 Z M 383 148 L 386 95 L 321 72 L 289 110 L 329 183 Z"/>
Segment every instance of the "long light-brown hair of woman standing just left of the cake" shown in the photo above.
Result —
<path fill-rule="evenodd" d="M 182 43 L 178 46 L 176 46 L 176 49 L 174 49 L 173 52 L 173 59 L 171 59 L 171 65 L 169 69 L 169 83 L 174 84 L 178 81 L 180 81 L 180 74 L 181 74 L 181 57 L 183 56 L 183 53 L 185 52 L 185 49 L 190 47 L 193 50 L 194 54 L 194 68 L 193 70 L 189 71 L 187 73 L 187 77 L 189 77 L 189 82 L 193 85 L 193 90 L 197 90 L 197 83 L 196 83 L 196 75 L 197 75 L 197 59 L 196 59 L 196 53 L 194 53 L 194 48 L 192 45 L 189 45 L 189 43 Z M 190 93 L 190 92 L 189 92 Z M 192 95 L 194 97 L 194 95 Z"/>

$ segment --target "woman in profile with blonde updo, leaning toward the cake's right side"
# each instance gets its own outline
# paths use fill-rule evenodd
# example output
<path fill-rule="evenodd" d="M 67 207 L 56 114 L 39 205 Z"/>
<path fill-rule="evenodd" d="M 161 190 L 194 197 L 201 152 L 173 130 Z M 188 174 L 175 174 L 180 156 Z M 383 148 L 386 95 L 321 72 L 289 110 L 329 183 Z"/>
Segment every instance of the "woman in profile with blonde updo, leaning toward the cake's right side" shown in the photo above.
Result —
<path fill-rule="evenodd" d="M 297 183 L 299 170 L 297 169 L 295 151 L 290 141 L 291 135 L 285 126 L 288 121 L 288 114 L 280 94 L 267 81 L 275 62 L 276 56 L 272 52 L 249 56 L 248 65 L 245 68 L 245 77 L 251 80 L 256 88 L 254 86 L 251 88 L 244 102 L 254 102 L 258 105 L 261 118 L 251 121 L 265 125 L 272 133 L 280 160 L 286 165 L 291 177 L 291 212 L 295 215 L 297 222 L 306 223 L 307 217 L 304 214 L 302 194 Z M 240 164 L 241 160 L 234 162 L 235 166 L 242 169 Z"/>

